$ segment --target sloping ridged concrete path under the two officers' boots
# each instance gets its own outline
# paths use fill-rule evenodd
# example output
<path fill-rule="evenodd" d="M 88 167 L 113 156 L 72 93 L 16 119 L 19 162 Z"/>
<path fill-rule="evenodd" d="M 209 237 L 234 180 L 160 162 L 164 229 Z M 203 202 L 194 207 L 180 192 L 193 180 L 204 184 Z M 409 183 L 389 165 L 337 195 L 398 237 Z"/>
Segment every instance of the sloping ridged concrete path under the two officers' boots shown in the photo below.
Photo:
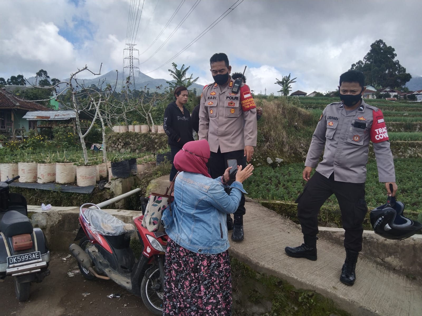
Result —
<path fill-rule="evenodd" d="M 154 192 L 165 192 L 168 183 L 168 175 L 155 180 Z M 245 207 L 245 239 L 230 241 L 230 253 L 255 270 L 314 290 L 352 315 L 422 315 L 422 286 L 417 282 L 361 256 L 356 283 L 348 287 L 339 280 L 346 256 L 343 246 L 320 237 L 317 261 L 289 257 L 284 248 L 303 242 L 298 225 L 261 204 L 246 202 Z"/>

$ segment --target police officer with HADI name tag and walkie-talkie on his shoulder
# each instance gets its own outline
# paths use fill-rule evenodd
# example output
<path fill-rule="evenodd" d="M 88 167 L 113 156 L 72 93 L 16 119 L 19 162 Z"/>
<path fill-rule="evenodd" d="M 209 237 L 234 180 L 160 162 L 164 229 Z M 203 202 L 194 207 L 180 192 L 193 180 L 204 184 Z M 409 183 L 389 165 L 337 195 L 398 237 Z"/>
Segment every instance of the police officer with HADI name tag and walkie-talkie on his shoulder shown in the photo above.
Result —
<path fill-rule="evenodd" d="M 246 166 L 257 145 L 257 112 L 251 91 L 246 84 L 233 93 L 234 80 L 230 77 L 231 66 L 227 55 L 214 54 L 210 59 L 214 82 L 205 86 L 199 110 L 199 139 L 206 139 L 211 156 L 208 161 L 211 177 L 224 174 L 227 160 L 236 159 L 238 165 Z M 228 181 L 229 179 L 225 179 Z M 243 240 L 243 215 L 245 196 L 242 193 L 232 224 L 227 214 L 227 229 L 233 225 L 231 238 Z"/>

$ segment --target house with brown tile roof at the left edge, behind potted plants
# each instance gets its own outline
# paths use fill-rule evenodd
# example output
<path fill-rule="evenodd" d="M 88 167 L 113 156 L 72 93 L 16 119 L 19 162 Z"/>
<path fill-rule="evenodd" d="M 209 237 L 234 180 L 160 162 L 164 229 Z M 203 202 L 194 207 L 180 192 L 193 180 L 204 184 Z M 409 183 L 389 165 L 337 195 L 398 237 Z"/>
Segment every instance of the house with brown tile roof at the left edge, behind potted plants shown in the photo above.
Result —
<path fill-rule="evenodd" d="M 51 110 L 41 104 L 19 99 L 8 93 L 5 88 L 0 89 L 0 132 L 14 133 L 15 129 L 22 126 L 26 129 L 35 129 L 35 123 L 30 123 L 23 118 L 28 111 Z M 34 125 L 34 126 L 31 126 Z"/>

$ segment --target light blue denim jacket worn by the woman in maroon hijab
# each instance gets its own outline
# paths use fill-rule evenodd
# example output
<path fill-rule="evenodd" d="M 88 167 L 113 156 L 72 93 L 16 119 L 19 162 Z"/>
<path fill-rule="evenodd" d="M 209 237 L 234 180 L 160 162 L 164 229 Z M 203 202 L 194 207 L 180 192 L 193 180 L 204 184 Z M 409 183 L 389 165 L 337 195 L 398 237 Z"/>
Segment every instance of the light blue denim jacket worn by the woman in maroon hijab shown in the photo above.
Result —
<path fill-rule="evenodd" d="M 243 185 L 235 181 L 230 195 L 221 177 L 180 172 L 174 184 L 174 202 L 162 214 L 168 236 L 176 244 L 200 254 L 225 252 L 228 241 L 226 214 L 239 206 Z"/>

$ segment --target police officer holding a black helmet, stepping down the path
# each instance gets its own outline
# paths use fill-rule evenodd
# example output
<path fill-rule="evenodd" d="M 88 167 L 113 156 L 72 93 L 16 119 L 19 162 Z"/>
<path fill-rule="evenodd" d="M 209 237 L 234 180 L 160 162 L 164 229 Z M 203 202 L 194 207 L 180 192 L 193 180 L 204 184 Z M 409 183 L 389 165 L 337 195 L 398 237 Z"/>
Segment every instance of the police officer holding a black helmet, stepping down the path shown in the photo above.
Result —
<path fill-rule="evenodd" d="M 394 196 L 397 191 L 384 117 L 381 110 L 363 102 L 364 82 L 365 77 L 360 71 L 350 70 L 342 74 L 338 87 L 342 102 L 328 104 L 322 112 L 303 170 L 303 179 L 307 183 L 296 200 L 304 243 L 285 249 L 291 257 L 317 260 L 317 215 L 322 204 L 334 194 L 345 230 L 346 260 L 340 281 L 347 285 L 354 284 L 357 257 L 362 250 L 362 223 L 368 212 L 365 180 L 370 141 L 379 182 L 385 182 L 388 195 Z M 322 150 L 324 156 L 318 163 Z M 310 178 L 316 166 L 316 172 Z M 390 192 L 390 184 L 393 192 Z"/>

